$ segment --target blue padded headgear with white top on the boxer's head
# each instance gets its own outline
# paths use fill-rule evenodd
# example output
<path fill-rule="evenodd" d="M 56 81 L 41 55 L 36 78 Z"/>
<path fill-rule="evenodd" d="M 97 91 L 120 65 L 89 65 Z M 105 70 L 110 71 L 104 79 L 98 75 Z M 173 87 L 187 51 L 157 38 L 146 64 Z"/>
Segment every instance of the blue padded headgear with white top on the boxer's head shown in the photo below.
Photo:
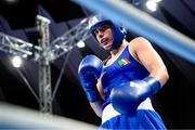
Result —
<path fill-rule="evenodd" d="M 122 40 L 125 38 L 125 34 L 121 31 L 120 27 L 117 26 L 116 24 L 114 24 L 110 20 L 105 20 L 103 18 L 101 15 L 96 15 L 93 16 L 89 20 L 89 29 L 90 32 L 93 35 L 93 37 L 96 39 L 94 30 L 100 27 L 103 24 L 107 24 L 110 26 L 112 30 L 113 30 L 113 46 L 112 49 L 117 49 L 120 47 L 120 44 L 122 43 Z"/>

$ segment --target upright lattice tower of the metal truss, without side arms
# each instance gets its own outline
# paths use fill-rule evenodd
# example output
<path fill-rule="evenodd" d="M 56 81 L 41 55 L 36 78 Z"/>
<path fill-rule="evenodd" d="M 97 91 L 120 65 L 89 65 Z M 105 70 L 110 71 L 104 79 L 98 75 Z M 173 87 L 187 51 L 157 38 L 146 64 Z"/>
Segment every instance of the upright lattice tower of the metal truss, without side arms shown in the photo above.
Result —
<path fill-rule="evenodd" d="M 37 27 L 39 30 L 40 39 L 39 47 L 43 51 L 40 51 L 39 58 L 39 99 L 40 99 L 40 112 L 43 114 L 52 114 L 52 88 L 51 88 L 51 68 L 50 61 L 48 60 L 50 44 L 50 20 L 37 15 Z"/>

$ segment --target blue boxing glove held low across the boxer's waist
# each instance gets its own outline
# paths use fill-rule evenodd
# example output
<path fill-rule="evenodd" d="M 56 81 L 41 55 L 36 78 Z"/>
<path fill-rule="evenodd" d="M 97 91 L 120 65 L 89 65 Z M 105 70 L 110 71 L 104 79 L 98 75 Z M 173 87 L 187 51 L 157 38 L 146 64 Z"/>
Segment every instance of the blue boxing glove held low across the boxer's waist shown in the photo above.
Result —
<path fill-rule="evenodd" d="M 134 80 L 113 88 L 110 102 L 113 107 L 121 114 L 134 116 L 136 108 L 144 100 L 160 89 L 160 82 L 153 77 Z"/>

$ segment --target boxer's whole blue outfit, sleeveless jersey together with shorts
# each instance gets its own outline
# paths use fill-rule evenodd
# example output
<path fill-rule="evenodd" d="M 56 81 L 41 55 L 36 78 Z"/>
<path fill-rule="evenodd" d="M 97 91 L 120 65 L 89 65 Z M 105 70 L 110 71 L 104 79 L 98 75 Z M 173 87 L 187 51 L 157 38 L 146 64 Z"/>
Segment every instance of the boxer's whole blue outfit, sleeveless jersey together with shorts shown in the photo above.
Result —
<path fill-rule="evenodd" d="M 129 44 L 128 44 L 129 46 Z M 104 88 L 105 103 L 103 104 L 103 115 L 116 114 L 112 107 L 109 94 L 114 87 L 131 80 L 143 79 L 150 73 L 142 66 L 130 53 L 128 46 L 121 52 L 120 56 L 109 66 L 104 66 L 101 75 L 102 86 Z M 108 108 L 108 109 L 107 109 Z M 104 116 L 102 117 L 104 118 Z M 105 129 L 164 129 L 166 127 L 160 116 L 150 108 L 138 109 L 133 117 L 123 114 L 116 114 L 108 120 L 102 122 L 99 128 Z"/>

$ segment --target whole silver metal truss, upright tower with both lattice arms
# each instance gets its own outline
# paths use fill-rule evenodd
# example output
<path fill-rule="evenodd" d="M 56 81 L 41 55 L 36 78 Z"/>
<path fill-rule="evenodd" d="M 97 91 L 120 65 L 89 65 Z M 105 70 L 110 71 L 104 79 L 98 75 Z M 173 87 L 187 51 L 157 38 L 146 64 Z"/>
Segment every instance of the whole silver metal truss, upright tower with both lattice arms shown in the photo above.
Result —
<path fill-rule="evenodd" d="M 40 35 L 39 46 L 26 42 L 0 32 L 0 50 L 11 55 L 28 60 L 30 56 L 39 63 L 39 105 L 40 112 L 52 114 L 52 89 L 50 63 L 70 51 L 78 41 L 89 38 L 88 18 L 50 43 L 50 20 L 37 15 L 37 29 Z"/>

